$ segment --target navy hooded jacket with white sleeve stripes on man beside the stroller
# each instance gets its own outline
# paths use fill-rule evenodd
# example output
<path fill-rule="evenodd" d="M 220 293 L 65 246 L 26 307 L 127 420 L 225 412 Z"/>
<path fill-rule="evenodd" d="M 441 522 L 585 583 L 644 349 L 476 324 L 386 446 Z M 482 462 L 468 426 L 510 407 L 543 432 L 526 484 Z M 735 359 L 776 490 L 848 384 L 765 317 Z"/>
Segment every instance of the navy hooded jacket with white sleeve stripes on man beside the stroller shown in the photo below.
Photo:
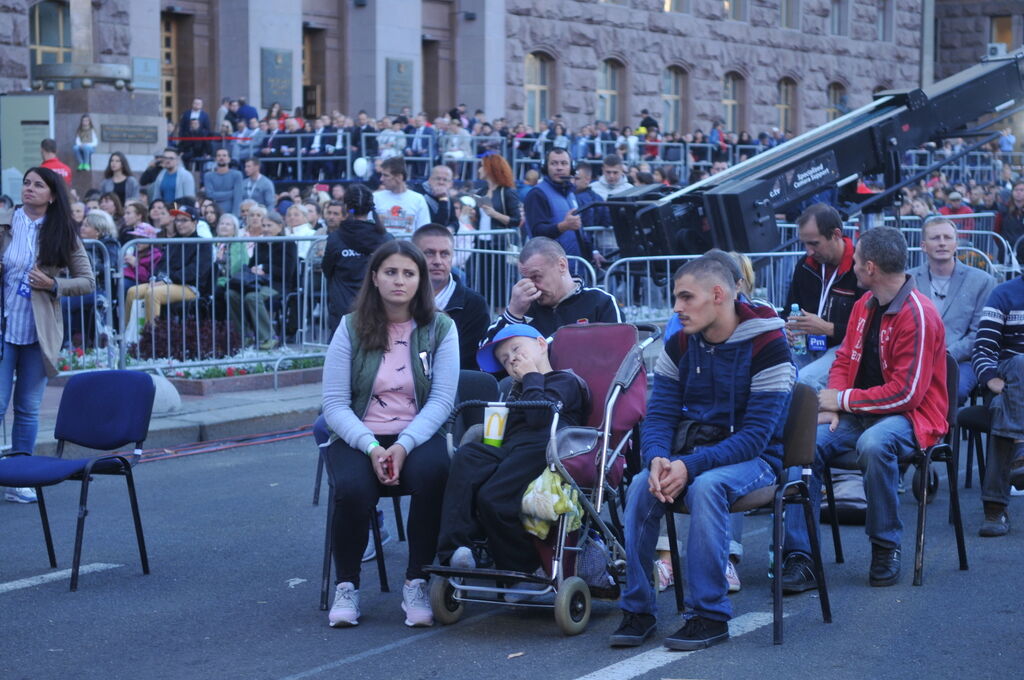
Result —
<path fill-rule="evenodd" d="M 723 465 L 763 458 L 782 470 L 782 430 L 797 370 L 770 307 L 735 302 L 739 325 L 723 343 L 700 333 L 676 333 L 654 365 L 654 385 L 640 432 L 644 465 L 654 458 L 682 461 L 689 479 Z M 681 420 L 715 425 L 722 440 L 676 454 Z"/>

